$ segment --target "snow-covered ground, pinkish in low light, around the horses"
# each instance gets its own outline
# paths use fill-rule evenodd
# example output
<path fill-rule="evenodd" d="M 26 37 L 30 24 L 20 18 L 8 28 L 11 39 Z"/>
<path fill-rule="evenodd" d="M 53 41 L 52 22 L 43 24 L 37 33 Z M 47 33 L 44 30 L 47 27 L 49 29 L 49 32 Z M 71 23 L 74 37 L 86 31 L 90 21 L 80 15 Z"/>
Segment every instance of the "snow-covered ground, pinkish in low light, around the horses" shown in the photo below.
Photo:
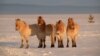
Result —
<path fill-rule="evenodd" d="M 41 14 L 40 14 L 41 15 Z M 37 48 L 38 39 L 30 37 L 30 48 L 19 48 L 20 35 L 15 31 L 15 19 L 21 18 L 28 24 L 37 22 L 40 15 L 0 15 L 0 56 L 100 56 L 100 14 L 92 14 L 95 23 L 88 23 L 89 14 L 49 14 L 41 15 L 46 23 L 55 24 L 59 19 L 67 24 L 68 17 L 73 17 L 80 25 L 80 33 L 77 39 L 77 47 L 50 48 L 50 37 L 46 38 L 46 48 Z"/>

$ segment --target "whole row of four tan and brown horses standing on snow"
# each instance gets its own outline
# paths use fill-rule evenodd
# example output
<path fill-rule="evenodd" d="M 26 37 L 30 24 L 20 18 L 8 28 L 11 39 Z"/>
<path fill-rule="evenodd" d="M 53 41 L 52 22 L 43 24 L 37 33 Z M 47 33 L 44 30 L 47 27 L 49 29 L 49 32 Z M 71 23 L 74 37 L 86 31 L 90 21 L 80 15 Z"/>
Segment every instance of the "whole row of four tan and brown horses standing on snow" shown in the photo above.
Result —
<path fill-rule="evenodd" d="M 68 18 L 67 27 L 62 20 L 58 20 L 56 24 L 46 24 L 42 16 L 39 16 L 36 24 L 28 25 L 21 19 L 16 19 L 16 30 L 21 35 L 20 48 L 29 48 L 29 37 L 36 35 L 39 40 L 38 48 L 45 48 L 46 36 L 51 38 L 51 47 L 55 47 L 55 41 L 58 40 L 58 48 L 63 48 L 63 38 L 66 35 L 67 45 L 72 41 L 72 47 L 77 47 L 76 38 L 79 32 L 79 25 L 74 22 L 73 18 Z M 24 44 L 25 42 L 25 44 Z"/>

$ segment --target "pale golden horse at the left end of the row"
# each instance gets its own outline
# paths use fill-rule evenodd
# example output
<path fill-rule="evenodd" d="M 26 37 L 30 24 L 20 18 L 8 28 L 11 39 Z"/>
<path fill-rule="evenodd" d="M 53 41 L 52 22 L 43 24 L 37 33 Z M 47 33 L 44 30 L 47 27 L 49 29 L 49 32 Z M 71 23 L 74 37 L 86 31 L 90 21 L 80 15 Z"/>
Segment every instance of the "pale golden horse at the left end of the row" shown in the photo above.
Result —
<path fill-rule="evenodd" d="M 24 47 L 24 42 L 26 43 L 26 48 L 29 48 L 29 36 L 31 35 L 31 28 L 29 25 L 22 21 L 21 19 L 16 19 L 16 30 L 19 31 L 21 35 L 21 45 L 20 48 Z"/>

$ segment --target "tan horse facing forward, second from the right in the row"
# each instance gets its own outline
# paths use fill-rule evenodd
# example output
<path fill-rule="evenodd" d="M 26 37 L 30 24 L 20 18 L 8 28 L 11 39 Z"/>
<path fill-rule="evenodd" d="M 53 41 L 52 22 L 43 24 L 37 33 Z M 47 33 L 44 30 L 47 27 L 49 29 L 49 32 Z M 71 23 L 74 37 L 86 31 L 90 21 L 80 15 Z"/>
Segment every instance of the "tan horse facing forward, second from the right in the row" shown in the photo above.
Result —
<path fill-rule="evenodd" d="M 63 38 L 66 34 L 66 27 L 62 20 L 56 22 L 56 38 L 58 39 L 58 48 L 63 48 Z"/>

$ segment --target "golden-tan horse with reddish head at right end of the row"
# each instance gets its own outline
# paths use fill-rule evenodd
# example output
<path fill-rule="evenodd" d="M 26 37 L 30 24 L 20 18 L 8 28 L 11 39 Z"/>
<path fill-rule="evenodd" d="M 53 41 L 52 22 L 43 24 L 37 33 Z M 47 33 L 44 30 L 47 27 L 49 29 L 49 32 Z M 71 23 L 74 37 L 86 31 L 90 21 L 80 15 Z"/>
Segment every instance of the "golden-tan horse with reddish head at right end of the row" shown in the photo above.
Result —
<path fill-rule="evenodd" d="M 67 33 L 67 46 L 69 47 L 69 40 L 72 41 L 72 47 L 77 47 L 76 45 L 76 39 L 79 32 L 79 25 L 74 22 L 73 18 L 68 18 L 68 24 L 66 28 Z"/>

